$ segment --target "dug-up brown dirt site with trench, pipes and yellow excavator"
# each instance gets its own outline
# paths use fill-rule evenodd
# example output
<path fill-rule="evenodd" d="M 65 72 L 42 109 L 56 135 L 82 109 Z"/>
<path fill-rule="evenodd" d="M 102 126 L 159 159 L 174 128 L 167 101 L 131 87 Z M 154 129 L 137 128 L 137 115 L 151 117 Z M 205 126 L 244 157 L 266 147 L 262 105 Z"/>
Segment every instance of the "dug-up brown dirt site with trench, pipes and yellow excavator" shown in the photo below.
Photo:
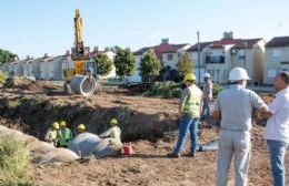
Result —
<path fill-rule="evenodd" d="M 83 44 L 79 10 L 76 10 L 71 61 L 73 65 L 63 69 L 64 81 L 39 81 L 11 75 L 1 82 L 0 141 L 12 136 L 12 142 L 22 143 L 28 148 L 30 164 L 26 172 L 31 182 L 23 185 L 216 185 L 218 122 L 199 124 L 199 151 L 196 157 L 186 156 L 190 146 L 187 137 L 181 157 L 169 158 L 167 155 L 173 151 L 179 134 L 178 96 L 150 95 L 148 91 L 152 84 L 148 83 L 111 85 L 99 82 L 97 65 L 91 61 L 89 48 Z M 275 99 L 272 92 L 258 93 L 266 103 Z M 98 136 L 109 127 L 111 118 L 118 120 L 121 142 L 131 145 L 129 154 L 121 147 L 117 153 L 99 155 L 107 149 L 103 147 L 102 152 L 90 151 L 83 158 L 80 149 L 54 147 L 44 142 L 47 131 L 56 121 L 66 121 L 73 134 L 79 124 L 83 124 L 86 132 Z M 272 185 L 263 138 L 266 121 L 259 112 L 253 113 L 250 186 Z M 4 147 L 0 148 L 1 156 L 2 152 Z M 228 185 L 235 185 L 233 169 L 231 165 Z M 288 173 L 287 167 L 287 179 Z M 3 177 L 0 177 L 0 185 L 7 185 Z"/>

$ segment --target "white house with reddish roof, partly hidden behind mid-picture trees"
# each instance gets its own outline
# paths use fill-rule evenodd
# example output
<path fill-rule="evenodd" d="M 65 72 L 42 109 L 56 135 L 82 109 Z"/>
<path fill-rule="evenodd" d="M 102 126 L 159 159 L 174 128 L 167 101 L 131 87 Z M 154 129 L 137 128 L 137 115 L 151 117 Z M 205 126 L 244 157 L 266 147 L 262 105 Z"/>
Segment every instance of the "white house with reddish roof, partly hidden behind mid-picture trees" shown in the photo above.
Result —
<path fill-rule="evenodd" d="M 130 82 L 141 82 L 140 61 L 141 58 L 152 49 L 161 62 L 162 68 L 176 69 L 176 64 L 191 44 L 170 44 L 169 39 L 162 39 L 159 45 L 141 48 L 133 52 L 136 59 L 136 73 L 129 76 Z"/>

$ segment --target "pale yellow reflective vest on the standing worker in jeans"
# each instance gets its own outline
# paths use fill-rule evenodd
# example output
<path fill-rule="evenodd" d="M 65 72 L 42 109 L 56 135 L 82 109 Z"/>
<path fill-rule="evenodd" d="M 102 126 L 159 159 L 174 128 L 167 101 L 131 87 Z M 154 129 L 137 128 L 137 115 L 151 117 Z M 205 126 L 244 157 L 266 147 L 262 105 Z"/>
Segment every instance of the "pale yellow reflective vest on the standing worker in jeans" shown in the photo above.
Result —
<path fill-rule="evenodd" d="M 190 116 L 199 117 L 202 93 L 196 85 L 189 86 L 188 89 L 190 91 L 190 96 L 185 103 L 182 113 Z"/>

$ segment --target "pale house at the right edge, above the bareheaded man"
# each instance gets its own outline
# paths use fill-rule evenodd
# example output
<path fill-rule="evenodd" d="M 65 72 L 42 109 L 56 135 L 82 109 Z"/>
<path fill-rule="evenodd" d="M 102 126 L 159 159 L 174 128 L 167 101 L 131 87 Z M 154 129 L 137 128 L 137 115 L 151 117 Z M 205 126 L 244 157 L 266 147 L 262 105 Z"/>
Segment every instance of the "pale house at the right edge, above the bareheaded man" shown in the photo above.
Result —
<path fill-rule="evenodd" d="M 280 71 L 289 71 L 289 37 L 276 37 L 266 44 L 263 83 L 273 84 Z"/>

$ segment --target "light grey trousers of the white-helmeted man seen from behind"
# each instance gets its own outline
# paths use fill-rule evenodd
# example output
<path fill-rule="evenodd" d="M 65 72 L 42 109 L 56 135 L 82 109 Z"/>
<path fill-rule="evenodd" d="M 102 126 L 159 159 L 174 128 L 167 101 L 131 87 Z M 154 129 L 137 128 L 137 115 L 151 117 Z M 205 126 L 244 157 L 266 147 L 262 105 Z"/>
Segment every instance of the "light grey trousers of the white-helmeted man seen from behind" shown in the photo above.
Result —
<path fill-rule="evenodd" d="M 236 186 L 246 186 L 251 154 L 250 132 L 221 130 L 217 163 L 218 186 L 226 186 L 232 156 L 235 157 Z"/>

